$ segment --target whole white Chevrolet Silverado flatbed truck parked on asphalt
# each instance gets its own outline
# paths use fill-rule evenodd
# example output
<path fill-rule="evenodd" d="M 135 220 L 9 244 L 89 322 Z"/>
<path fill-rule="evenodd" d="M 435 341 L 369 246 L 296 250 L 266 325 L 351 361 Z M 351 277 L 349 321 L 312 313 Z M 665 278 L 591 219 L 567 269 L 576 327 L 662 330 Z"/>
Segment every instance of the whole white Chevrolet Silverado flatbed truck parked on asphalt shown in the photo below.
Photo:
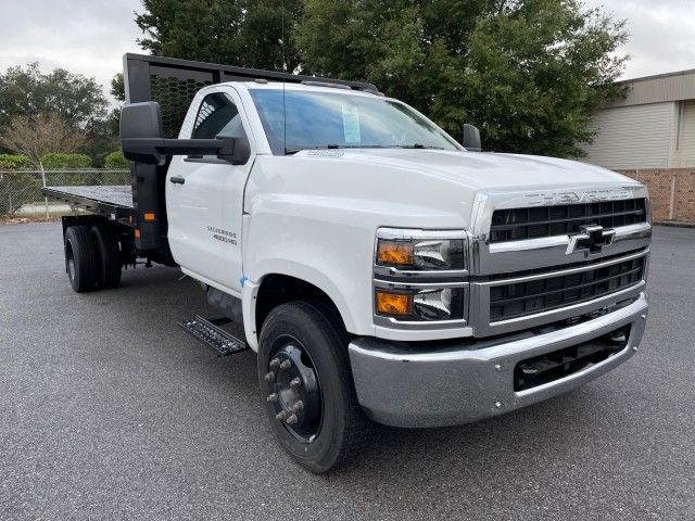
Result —
<path fill-rule="evenodd" d="M 481 153 L 473 127 L 459 144 L 368 84 L 124 63 L 131 186 L 46 189 L 86 211 L 63 218 L 70 281 L 113 289 L 138 260 L 200 281 L 219 317 L 180 326 L 222 355 L 256 352 L 277 437 L 311 471 L 346 461 L 371 421 L 501 415 L 637 350 L 639 182 Z"/>

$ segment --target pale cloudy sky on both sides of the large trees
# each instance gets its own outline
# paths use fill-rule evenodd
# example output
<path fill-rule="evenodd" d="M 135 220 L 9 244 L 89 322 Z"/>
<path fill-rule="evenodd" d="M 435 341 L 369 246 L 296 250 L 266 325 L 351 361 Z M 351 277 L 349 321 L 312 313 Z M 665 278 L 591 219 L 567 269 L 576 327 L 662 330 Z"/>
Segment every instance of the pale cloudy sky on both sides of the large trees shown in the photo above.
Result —
<path fill-rule="evenodd" d="M 695 0 L 584 2 L 628 20 L 623 79 L 695 68 Z M 37 61 L 93 76 L 108 93 L 123 54 L 141 52 L 135 11 L 140 0 L 0 0 L 0 69 Z"/>

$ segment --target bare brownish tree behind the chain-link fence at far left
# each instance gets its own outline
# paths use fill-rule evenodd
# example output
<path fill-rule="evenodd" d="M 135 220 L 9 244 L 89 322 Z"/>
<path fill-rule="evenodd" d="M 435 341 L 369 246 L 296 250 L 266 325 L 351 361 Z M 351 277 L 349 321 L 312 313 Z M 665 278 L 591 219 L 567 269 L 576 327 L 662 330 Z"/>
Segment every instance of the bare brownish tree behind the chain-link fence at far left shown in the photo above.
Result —
<path fill-rule="evenodd" d="M 55 112 L 14 116 L 0 134 L 0 143 L 29 156 L 35 163 L 51 152 L 74 152 L 86 143 L 84 131 Z"/>

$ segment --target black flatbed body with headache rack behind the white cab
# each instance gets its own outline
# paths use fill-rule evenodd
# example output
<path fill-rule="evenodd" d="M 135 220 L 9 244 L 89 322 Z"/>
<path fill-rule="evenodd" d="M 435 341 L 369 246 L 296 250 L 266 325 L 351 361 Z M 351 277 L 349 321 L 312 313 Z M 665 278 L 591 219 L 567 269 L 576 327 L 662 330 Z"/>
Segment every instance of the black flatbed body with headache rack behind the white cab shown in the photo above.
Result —
<path fill-rule="evenodd" d="M 146 54 L 123 56 L 126 103 L 155 101 L 160 105 L 165 138 L 176 139 L 191 101 L 208 85 L 225 81 L 286 81 L 341 86 L 378 93 L 371 84 L 345 81 L 276 71 L 235 67 Z M 135 247 L 143 257 L 170 258 L 164 183 L 169 162 L 146 165 L 130 162 L 130 186 L 48 187 L 43 193 L 123 225 L 134 227 Z M 147 219 L 146 219 L 147 214 Z"/>

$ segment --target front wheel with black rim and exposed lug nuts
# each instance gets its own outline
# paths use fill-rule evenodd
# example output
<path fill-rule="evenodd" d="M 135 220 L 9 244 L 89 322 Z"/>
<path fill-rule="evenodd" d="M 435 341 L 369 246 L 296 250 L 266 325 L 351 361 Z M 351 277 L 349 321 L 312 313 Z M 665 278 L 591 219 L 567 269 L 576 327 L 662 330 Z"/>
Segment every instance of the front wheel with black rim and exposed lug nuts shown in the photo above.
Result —
<path fill-rule="evenodd" d="M 280 445 L 314 473 L 350 460 L 370 428 L 346 347 L 343 328 L 318 302 L 276 307 L 261 331 L 258 380 L 268 417 Z"/>

